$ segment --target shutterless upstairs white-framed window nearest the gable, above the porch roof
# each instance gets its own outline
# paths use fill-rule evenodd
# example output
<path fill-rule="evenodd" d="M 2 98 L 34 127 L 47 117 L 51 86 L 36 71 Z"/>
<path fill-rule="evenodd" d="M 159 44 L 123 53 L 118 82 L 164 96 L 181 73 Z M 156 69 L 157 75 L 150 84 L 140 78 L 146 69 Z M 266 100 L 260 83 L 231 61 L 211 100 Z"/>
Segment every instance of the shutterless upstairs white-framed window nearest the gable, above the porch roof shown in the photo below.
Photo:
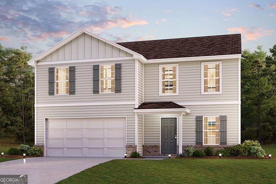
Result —
<path fill-rule="evenodd" d="M 178 64 L 159 65 L 159 95 L 178 95 Z"/>

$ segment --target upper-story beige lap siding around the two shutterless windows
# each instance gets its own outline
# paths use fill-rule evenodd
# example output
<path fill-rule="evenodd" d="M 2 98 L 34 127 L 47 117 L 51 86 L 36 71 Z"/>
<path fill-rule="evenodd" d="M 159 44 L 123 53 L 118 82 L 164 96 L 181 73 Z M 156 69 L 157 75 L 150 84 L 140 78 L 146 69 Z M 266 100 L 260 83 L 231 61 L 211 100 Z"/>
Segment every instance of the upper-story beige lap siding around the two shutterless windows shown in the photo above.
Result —
<path fill-rule="evenodd" d="M 201 62 L 178 62 L 178 95 L 159 96 L 159 64 L 144 64 L 144 101 L 238 101 L 238 59 L 222 61 L 222 94 L 201 94 Z M 165 63 L 162 63 L 165 64 Z"/>

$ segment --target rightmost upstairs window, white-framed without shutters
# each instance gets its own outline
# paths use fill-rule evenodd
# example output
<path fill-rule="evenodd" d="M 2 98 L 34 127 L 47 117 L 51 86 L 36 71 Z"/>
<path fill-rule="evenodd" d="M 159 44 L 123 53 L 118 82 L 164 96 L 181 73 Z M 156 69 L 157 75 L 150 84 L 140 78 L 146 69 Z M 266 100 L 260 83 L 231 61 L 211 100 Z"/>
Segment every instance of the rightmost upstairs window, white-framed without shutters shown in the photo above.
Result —
<path fill-rule="evenodd" d="M 202 62 L 201 93 L 221 93 L 221 62 Z"/>

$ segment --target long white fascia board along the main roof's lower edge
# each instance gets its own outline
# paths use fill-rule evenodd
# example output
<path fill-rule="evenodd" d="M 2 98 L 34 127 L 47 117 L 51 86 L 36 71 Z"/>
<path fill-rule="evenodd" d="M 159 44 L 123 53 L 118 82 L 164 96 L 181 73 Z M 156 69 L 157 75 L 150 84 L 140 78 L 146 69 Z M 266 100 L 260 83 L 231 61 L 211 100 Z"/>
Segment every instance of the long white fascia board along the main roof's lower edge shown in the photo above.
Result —
<path fill-rule="evenodd" d="M 147 63 L 207 61 L 207 60 L 225 60 L 225 59 L 239 59 L 239 58 L 241 58 L 241 54 L 211 55 L 211 56 L 198 56 L 198 57 L 178 57 L 178 58 L 154 59 L 154 60 L 147 60 Z"/>

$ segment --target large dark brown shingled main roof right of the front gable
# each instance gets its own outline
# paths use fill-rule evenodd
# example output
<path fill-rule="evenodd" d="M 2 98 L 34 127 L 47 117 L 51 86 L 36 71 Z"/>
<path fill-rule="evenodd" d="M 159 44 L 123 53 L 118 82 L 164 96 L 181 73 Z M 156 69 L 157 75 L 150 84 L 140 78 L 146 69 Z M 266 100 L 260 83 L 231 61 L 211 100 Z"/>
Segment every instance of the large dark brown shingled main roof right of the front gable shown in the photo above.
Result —
<path fill-rule="evenodd" d="M 241 34 L 117 43 L 147 60 L 241 54 Z"/>

